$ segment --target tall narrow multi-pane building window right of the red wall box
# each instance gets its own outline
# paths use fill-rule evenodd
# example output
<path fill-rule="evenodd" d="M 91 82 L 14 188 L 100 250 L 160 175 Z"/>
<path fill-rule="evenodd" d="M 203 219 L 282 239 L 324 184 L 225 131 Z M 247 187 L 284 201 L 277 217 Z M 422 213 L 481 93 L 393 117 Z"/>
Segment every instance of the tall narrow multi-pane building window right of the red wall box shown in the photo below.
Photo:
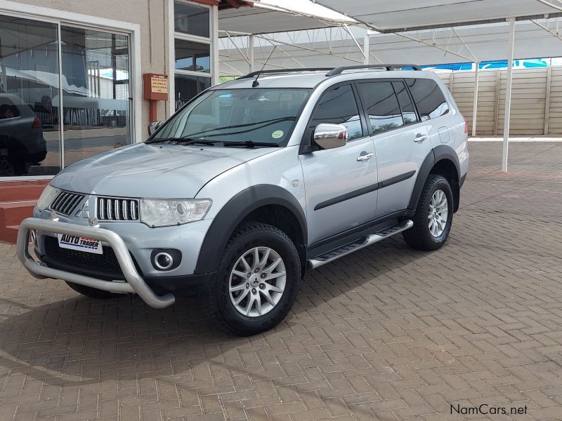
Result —
<path fill-rule="evenodd" d="M 174 104 L 185 102 L 211 86 L 211 8 L 174 3 Z"/>

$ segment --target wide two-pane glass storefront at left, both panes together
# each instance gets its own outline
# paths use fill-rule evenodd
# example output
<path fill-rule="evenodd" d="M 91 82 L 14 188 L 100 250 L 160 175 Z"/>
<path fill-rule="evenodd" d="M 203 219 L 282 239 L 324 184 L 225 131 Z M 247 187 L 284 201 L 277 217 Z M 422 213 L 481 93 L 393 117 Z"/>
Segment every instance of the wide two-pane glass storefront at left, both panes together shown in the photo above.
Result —
<path fill-rule="evenodd" d="M 131 142 L 129 58 L 129 35 L 0 15 L 0 181 Z"/>

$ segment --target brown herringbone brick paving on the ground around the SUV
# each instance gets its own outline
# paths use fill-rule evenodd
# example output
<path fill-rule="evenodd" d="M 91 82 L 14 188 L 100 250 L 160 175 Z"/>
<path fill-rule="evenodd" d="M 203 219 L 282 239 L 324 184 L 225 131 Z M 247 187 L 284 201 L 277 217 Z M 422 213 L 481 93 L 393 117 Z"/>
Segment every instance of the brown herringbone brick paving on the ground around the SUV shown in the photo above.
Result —
<path fill-rule="evenodd" d="M 389 239 L 310 272 L 252 338 L 196 298 L 81 298 L 0 243 L 0 420 L 562 419 L 562 143 L 511 145 L 509 175 L 501 143 L 470 146 L 444 248 Z"/>

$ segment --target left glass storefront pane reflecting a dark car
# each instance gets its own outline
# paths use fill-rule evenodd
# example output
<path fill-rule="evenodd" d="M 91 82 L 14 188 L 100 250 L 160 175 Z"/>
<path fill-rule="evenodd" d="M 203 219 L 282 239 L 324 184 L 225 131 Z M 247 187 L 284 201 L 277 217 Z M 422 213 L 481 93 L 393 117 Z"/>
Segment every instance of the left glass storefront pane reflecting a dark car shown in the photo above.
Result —
<path fill-rule="evenodd" d="M 0 181 L 60 171 L 58 25 L 0 15 Z"/>

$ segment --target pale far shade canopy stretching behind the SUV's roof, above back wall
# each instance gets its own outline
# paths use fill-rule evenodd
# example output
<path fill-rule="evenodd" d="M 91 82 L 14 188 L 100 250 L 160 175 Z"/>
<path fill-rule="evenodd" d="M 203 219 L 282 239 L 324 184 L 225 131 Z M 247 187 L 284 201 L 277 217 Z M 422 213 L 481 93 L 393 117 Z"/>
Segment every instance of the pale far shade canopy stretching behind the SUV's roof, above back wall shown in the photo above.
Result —
<path fill-rule="evenodd" d="M 256 66 L 261 68 L 274 45 L 277 47 L 269 58 L 266 69 L 362 64 L 365 31 L 360 28 L 348 29 L 349 32 L 336 27 L 293 34 L 257 35 L 254 40 Z M 505 60 L 509 48 L 509 24 L 500 22 L 417 32 L 370 34 L 369 43 L 370 63 L 412 62 L 417 65 L 436 65 Z M 249 71 L 245 48 L 247 37 L 221 39 L 221 74 L 245 74 Z M 562 34 L 556 33 L 554 20 L 516 22 L 515 58 L 560 56 Z"/>

